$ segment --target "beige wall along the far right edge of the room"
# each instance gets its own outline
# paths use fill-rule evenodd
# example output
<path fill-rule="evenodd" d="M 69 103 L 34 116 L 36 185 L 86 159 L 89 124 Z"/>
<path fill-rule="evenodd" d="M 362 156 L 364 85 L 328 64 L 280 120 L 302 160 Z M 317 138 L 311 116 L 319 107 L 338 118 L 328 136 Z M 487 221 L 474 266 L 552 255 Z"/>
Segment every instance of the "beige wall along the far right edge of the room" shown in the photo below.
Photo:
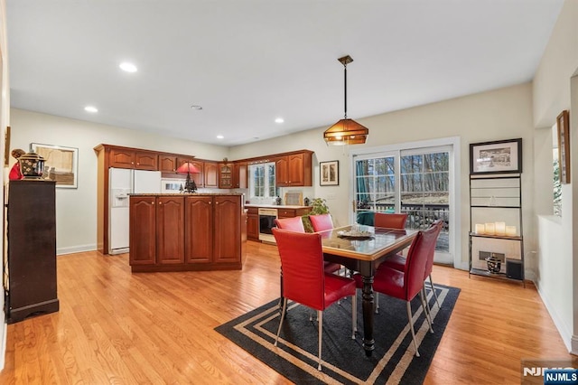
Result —
<path fill-rule="evenodd" d="M 578 353 L 578 2 L 566 0 L 534 79 L 536 214 L 539 275 L 536 286 L 569 350 Z M 571 90 L 574 95 L 571 99 Z M 571 179 L 563 185 L 562 218 L 552 214 L 552 139 L 547 128 L 564 109 L 570 109 Z M 545 128 L 544 128 L 545 127 Z M 578 202 L 578 201 L 577 201 Z"/>

